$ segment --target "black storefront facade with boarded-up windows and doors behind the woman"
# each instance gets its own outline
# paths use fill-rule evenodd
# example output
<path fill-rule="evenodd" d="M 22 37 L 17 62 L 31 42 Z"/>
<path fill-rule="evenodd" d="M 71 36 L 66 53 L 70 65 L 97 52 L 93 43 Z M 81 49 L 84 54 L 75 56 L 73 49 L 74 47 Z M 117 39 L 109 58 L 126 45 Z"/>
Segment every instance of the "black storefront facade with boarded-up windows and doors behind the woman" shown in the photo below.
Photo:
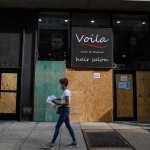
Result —
<path fill-rule="evenodd" d="M 150 120 L 147 11 L 0 12 L 0 119 L 55 121 L 45 99 L 58 88 L 55 80 L 65 75 L 72 99 L 81 98 L 71 104 L 73 121 Z M 97 106 L 90 105 L 92 98 Z"/>

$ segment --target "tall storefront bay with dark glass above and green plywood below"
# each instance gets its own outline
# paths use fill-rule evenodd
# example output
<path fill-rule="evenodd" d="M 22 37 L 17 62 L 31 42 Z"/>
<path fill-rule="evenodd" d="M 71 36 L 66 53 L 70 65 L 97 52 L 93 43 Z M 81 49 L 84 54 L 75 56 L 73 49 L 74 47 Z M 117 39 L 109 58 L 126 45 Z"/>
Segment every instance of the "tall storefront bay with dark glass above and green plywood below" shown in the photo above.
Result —
<path fill-rule="evenodd" d="M 59 79 L 64 77 L 68 49 L 69 20 L 63 14 L 39 17 L 38 58 L 35 66 L 34 120 L 56 121 L 56 109 L 46 102 L 60 97 Z"/>

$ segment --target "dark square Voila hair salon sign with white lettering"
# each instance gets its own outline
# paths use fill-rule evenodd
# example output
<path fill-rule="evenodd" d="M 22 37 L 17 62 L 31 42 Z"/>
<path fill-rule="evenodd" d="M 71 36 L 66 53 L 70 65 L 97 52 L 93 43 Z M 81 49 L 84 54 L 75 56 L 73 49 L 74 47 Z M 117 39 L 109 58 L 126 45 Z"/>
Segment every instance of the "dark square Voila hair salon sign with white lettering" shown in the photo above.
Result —
<path fill-rule="evenodd" d="M 112 68 L 112 60 L 112 29 L 72 28 L 71 67 Z"/>

